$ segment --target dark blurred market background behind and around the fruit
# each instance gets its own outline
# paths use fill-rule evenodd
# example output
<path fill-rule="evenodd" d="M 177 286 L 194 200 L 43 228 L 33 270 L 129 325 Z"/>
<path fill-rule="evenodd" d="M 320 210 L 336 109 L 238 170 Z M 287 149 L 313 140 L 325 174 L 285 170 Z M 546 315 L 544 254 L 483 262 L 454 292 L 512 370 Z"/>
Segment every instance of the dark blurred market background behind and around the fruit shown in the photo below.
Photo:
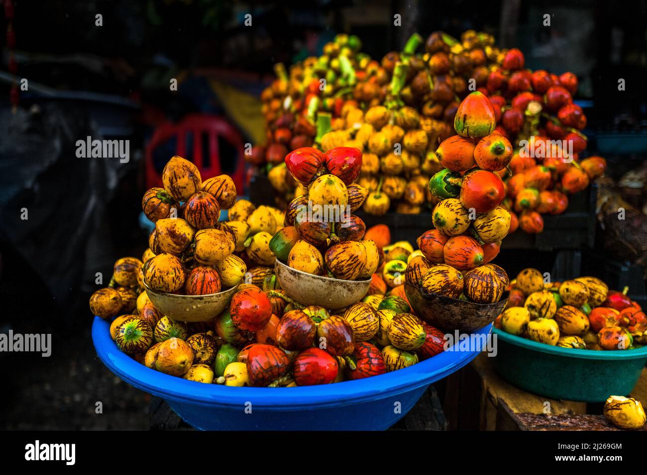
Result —
<path fill-rule="evenodd" d="M 52 356 L 0 352 L 1 428 L 149 427 L 148 396 L 96 359 L 87 306 L 96 273 L 109 276 L 117 257 L 146 248 L 140 200 L 166 160 L 206 149 L 199 132 L 178 143 L 178 128 L 215 127 L 217 147 L 204 166 L 234 175 L 247 195 L 254 170 L 241 150 L 265 141 L 259 96 L 274 66 L 321 54 L 338 33 L 357 35 L 379 60 L 414 32 L 459 37 L 472 28 L 499 47 L 520 48 L 531 69 L 574 72 L 589 150 L 609 160 L 616 180 L 639 171 L 623 186 L 642 210 L 637 229 L 647 229 L 647 1 L 620 8 L 584 0 L 2 0 L 2 7 L 0 333 L 52 333 Z M 87 136 L 128 140 L 129 160 L 79 158 L 76 142 Z M 591 244 L 580 249 L 583 271 L 609 251 L 604 238 Z M 619 252 L 609 272 L 620 284 L 631 276 L 644 292 L 645 252 Z M 504 249 L 501 259 L 514 275 L 529 265 L 551 268 L 557 258 Z M 95 413 L 96 401 L 104 414 Z"/>

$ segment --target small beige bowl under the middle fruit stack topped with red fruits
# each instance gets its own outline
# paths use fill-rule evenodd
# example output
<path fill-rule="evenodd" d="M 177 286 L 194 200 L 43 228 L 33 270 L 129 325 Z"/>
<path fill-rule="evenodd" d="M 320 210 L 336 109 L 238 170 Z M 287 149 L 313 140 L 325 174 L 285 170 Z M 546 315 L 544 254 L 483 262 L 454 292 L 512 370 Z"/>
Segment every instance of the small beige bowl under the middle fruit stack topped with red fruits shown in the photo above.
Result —
<path fill-rule="evenodd" d="M 359 302 L 371 286 L 371 279 L 340 280 L 321 277 L 292 269 L 278 259 L 274 264 L 274 273 L 288 297 L 302 305 L 318 305 L 328 310 L 337 310 Z"/>

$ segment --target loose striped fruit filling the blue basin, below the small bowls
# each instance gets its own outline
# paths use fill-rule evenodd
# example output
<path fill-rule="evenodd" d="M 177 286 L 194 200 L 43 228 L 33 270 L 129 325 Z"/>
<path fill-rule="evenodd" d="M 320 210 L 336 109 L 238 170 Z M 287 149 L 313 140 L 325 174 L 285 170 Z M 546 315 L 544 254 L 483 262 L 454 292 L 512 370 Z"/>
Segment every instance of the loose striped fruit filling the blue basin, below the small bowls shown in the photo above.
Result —
<path fill-rule="evenodd" d="M 444 350 L 443 332 L 422 322 L 397 295 L 373 289 L 366 301 L 331 315 L 289 299 L 276 276 L 265 277 L 261 287 L 241 284 L 223 313 L 199 323 L 169 319 L 144 293 L 136 314 L 114 319 L 111 336 L 120 350 L 151 369 L 227 386 L 361 379 Z"/>

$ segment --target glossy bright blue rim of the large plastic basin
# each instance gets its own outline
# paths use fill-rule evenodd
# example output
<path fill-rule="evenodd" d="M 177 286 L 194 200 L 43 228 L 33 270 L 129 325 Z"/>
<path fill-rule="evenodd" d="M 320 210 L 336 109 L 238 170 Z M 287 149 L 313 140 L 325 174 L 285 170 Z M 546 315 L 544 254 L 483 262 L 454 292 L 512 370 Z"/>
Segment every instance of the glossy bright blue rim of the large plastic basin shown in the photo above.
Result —
<path fill-rule="evenodd" d="M 117 348 L 110 336 L 109 326 L 108 321 L 94 317 L 92 339 L 99 359 L 118 377 L 163 399 L 230 409 L 250 401 L 255 407 L 266 410 L 308 410 L 314 405 L 317 408 L 345 406 L 397 396 L 443 379 L 472 361 L 483 350 L 448 350 L 408 368 L 331 385 L 296 388 L 232 387 L 188 381 L 147 368 Z M 472 335 L 483 335 L 487 342 L 491 332 L 492 324 L 488 324 Z"/>

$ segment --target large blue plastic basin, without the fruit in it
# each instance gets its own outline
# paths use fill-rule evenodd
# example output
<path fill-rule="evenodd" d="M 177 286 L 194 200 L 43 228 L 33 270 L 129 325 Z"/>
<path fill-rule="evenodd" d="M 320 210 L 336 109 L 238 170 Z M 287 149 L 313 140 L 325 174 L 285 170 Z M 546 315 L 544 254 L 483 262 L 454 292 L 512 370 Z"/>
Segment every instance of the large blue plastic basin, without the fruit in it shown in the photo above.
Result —
<path fill-rule="evenodd" d="M 490 324 L 475 333 L 487 337 L 491 330 Z M 130 385 L 162 397 L 186 423 L 203 430 L 384 430 L 409 412 L 431 383 L 462 368 L 481 351 L 446 351 L 409 368 L 358 381 L 236 388 L 205 385 L 146 368 L 117 348 L 109 322 L 99 317 L 94 317 L 92 339 L 109 370 Z"/>

